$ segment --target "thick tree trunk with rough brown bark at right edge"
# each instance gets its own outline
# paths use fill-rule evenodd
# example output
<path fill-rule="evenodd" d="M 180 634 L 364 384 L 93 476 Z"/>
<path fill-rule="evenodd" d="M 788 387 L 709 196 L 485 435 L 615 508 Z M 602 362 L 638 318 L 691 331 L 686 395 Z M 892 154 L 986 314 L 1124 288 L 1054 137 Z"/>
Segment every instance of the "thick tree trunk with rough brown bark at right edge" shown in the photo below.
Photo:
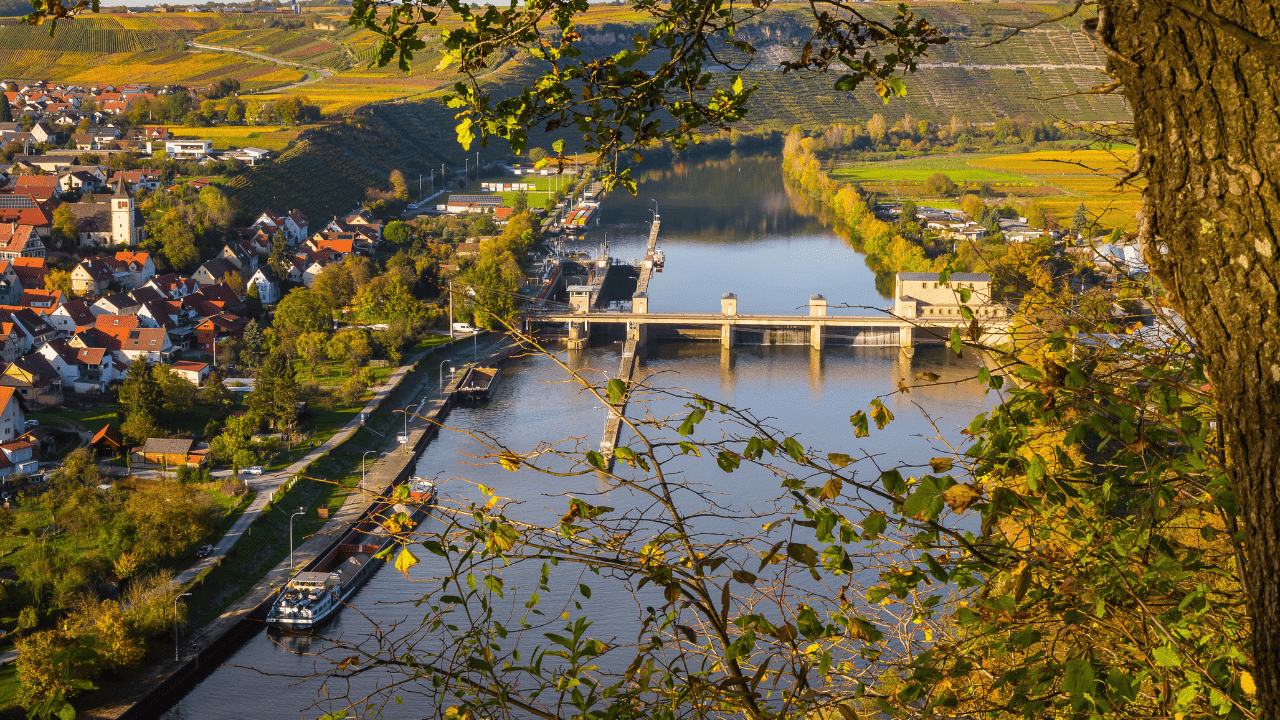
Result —
<path fill-rule="evenodd" d="M 1134 114 L 1149 265 L 1207 360 L 1249 566 L 1253 675 L 1280 719 L 1280 3 L 1102 0 Z M 1162 255 L 1162 250 L 1167 252 Z"/>

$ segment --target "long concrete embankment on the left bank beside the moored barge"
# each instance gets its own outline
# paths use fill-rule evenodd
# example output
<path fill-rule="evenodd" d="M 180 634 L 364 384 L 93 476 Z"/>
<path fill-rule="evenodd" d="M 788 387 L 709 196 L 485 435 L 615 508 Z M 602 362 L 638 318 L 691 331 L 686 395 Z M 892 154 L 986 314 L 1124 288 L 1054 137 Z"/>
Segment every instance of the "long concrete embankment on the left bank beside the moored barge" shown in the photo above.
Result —
<path fill-rule="evenodd" d="M 503 336 L 502 341 L 485 348 L 480 364 L 500 363 L 518 351 L 518 345 Z M 419 456 L 436 434 L 436 423 L 443 423 L 448 415 L 453 387 L 463 374 L 462 372 L 457 373 L 453 383 L 440 393 L 438 389 L 433 389 L 431 356 L 420 361 L 420 365 L 404 377 L 406 382 L 402 382 L 396 392 L 387 396 L 394 397 L 398 405 L 407 398 L 434 395 L 434 397 L 429 396 L 422 401 L 416 416 L 411 416 L 408 442 L 402 446 L 390 438 L 390 451 L 370 468 L 365 478 L 365 492 L 353 492 L 348 496 L 342 507 L 319 532 L 297 546 L 293 552 L 294 569 L 306 568 L 328 555 L 374 505 L 389 497 L 393 488 L 407 480 L 413 473 Z M 402 410 L 402 407 L 387 402 L 383 402 L 383 409 Z M 410 410 L 412 414 L 412 407 Z M 289 561 L 285 560 L 261 578 L 248 593 L 228 607 L 219 618 L 184 638 L 179 646 L 182 648 L 180 660 L 170 660 L 150 669 L 115 693 L 118 697 L 115 702 L 83 710 L 83 717 L 141 720 L 160 715 L 198 683 L 204 675 L 218 667 L 244 639 L 262 630 L 262 618 L 266 616 L 276 593 L 291 577 Z"/>

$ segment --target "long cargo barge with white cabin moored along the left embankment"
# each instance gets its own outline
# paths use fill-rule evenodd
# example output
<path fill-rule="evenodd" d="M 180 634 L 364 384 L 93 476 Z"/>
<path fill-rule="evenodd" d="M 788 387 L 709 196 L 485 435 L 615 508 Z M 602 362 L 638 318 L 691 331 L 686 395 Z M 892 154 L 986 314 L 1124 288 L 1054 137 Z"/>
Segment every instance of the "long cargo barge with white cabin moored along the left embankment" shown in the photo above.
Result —
<path fill-rule="evenodd" d="M 381 514 L 370 512 L 328 555 L 289 579 L 268 610 L 266 621 L 282 629 L 306 630 L 328 620 L 374 573 L 380 562 L 378 555 L 396 542 L 380 516 L 403 512 L 416 523 L 424 507 L 383 505 Z"/>

